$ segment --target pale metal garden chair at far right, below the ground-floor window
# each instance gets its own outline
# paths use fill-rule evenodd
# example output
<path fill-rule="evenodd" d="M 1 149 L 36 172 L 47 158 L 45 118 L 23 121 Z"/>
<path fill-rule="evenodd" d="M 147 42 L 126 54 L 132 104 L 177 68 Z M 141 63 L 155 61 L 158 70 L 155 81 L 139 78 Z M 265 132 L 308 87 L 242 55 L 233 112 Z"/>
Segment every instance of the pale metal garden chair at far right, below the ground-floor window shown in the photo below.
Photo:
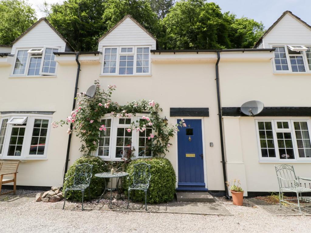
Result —
<path fill-rule="evenodd" d="M 280 195 L 280 207 L 282 207 L 281 202 L 285 202 L 285 203 L 288 203 L 291 205 L 296 205 L 299 207 L 299 211 L 301 213 L 299 201 L 304 200 L 304 201 L 310 202 L 310 199 L 308 199 L 307 197 L 302 198 L 301 194 L 311 192 L 311 189 L 299 186 L 299 184 L 300 184 L 299 180 L 300 179 L 301 180 L 310 180 L 310 179 L 306 179 L 306 178 L 296 176 L 294 166 L 287 165 L 287 164 L 281 164 L 281 165 L 274 166 L 274 167 L 276 170 L 276 176 L 277 176 L 277 179 L 279 182 L 279 187 L 280 187 L 280 193 L 279 193 L 279 195 Z M 298 204 L 288 202 L 289 200 L 296 200 L 296 198 L 284 199 L 283 191 L 296 193 Z M 299 198 L 299 194 L 300 194 L 300 198 Z"/>

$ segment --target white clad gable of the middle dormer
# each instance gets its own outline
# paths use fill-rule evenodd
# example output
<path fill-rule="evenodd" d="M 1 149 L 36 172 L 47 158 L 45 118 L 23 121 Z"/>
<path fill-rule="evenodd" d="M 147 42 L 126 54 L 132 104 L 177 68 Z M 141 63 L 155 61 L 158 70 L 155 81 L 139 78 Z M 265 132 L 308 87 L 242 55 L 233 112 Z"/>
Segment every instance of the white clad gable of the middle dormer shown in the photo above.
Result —
<path fill-rule="evenodd" d="M 127 17 L 111 32 L 108 32 L 108 34 L 99 41 L 98 46 L 99 51 L 102 51 L 103 46 L 135 45 L 151 45 L 151 49 L 156 49 L 156 40 L 137 25 L 130 17 Z"/>

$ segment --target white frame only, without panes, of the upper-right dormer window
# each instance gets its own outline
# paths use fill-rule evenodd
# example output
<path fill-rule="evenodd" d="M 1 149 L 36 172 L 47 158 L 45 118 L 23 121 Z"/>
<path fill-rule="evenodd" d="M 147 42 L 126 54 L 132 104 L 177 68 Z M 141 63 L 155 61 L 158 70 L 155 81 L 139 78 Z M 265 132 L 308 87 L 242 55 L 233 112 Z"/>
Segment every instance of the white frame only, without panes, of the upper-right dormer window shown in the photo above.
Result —
<path fill-rule="evenodd" d="M 287 60 L 287 66 L 288 66 L 288 70 L 286 71 L 277 71 L 276 70 L 276 64 L 274 62 L 274 56 L 273 58 L 271 59 L 272 60 L 272 65 L 273 65 L 273 72 L 276 73 L 276 74 L 281 74 L 281 73 L 286 73 L 286 74 L 306 74 L 306 73 L 311 73 L 311 69 L 309 69 L 309 65 L 308 65 L 308 59 L 307 59 L 307 55 L 306 55 L 306 51 L 308 50 L 307 47 L 311 47 L 311 45 L 288 45 L 288 44 L 269 44 L 270 45 L 270 48 L 273 48 L 273 47 L 284 47 L 285 48 L 285 55 L 286 55 L 286 60 Z M 300 50 L 295 50 L 295 48 L 292 49 L 292 46 L 302 46 L 304 47 L 304 50 L 300 49 Z M 302 59 L 304 61 L 304 69 L 305 71 L 302 71 L 302 72 L 293 72 L 292 71 L 292 67 L 291 67 L 291 63 L 290 63 L 290 55 L 288 53 L 288 48 L 290 48 L 290 50 L 292 51 L 296 51 L 296 52 L 299 52 L 301 51 L 302 54 Z M 274 52 L 273 52 L 274 54 Z M 292 55 L 292 56 L 297 56 L 297 55 Z M 298 55 L 299 56 L 299 55 Z"/>

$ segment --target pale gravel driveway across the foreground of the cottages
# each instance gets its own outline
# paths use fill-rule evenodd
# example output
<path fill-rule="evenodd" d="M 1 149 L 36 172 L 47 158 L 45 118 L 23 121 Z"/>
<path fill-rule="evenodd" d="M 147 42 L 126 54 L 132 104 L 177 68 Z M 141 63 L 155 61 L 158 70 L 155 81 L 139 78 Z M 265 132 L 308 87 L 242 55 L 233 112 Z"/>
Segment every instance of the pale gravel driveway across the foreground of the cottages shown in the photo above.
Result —
<path fill-rule="evenodd" d="M 0 206 L 0 232 L 299 232 L 309 233 L 310 216 L 272 216 L 262 208 L 224 202 L 234 216 L 61 210 L 33 201 Z"/>

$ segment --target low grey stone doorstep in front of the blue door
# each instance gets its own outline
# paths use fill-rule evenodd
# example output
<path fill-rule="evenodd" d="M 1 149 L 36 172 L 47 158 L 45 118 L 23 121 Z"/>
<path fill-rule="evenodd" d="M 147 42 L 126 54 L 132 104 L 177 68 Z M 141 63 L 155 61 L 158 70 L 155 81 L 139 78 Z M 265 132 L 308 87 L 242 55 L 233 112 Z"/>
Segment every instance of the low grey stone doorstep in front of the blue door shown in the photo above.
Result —
<path fill-rule="evenodd" d="M 208 192 L 176 192 L 178 202 L 215 202 Z"/>

